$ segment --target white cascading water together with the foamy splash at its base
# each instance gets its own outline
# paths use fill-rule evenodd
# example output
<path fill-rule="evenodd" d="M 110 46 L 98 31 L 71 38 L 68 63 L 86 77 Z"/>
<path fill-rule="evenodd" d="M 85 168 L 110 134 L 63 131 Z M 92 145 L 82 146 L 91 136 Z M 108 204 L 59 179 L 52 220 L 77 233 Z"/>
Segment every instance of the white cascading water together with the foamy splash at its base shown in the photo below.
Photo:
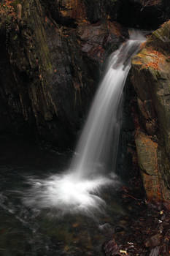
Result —
<path fill-rule="evenodd" d="M 131 68 L 131 56 L 144 39 L 139 31 L 132 31 L 130 39 L 112 53 L 69 171 L 47 180 L 29 179 L 32 187 L 24 198 L 26 205 L 57 208 L 60 215 L 101 211 L 104 200 L 99 197 L 99 189 L 116 182 L 123 86 Z"/>

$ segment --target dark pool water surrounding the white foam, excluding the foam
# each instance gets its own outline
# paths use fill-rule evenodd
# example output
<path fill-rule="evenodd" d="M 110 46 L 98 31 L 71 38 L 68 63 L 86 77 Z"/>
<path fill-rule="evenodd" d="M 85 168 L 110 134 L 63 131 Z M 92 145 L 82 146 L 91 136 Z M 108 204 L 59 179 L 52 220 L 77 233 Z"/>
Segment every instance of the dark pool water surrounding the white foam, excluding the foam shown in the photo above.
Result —
<path fill-rule="evenodd" d="M 0 255 L 104 255 L 102 244 L 112 238 L 117 219 L 128 213 L 114 188 L 105 188 L 105 214 L 55 217 L 53 208 L 39 211 L 23 204 L 30 176 L 46 178 L 65 170 L 71 152 L 41 149 L 26 140 L 1 140 Z"/>

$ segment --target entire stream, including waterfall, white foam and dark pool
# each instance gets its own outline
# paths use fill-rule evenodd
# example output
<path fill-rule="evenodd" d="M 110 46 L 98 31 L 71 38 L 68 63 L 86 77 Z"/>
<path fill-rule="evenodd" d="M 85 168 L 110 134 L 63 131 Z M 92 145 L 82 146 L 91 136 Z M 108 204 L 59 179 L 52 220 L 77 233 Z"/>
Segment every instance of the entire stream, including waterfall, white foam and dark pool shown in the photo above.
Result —
<path fill-rule="evenodd" d="M 131 213 L 115 174 L 121 99 L 143 41 L 132 31 L 110 56 L 75 152 L 2 138 L 0 255 L 100 256 L 104 242 L 125 230 Z"/>

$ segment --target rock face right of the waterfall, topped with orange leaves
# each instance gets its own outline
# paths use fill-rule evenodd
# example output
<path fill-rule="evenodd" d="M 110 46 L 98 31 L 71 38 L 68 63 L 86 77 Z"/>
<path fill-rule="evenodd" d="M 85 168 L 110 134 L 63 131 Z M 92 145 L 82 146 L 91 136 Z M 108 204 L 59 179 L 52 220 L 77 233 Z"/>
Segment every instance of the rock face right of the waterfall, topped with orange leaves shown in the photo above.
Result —
<path fill-rule="evenodd" d="M 149 200 L 170 200 L 170 22 L 154 31 L 132 60 L 141 118 L 136 148 Z"/>

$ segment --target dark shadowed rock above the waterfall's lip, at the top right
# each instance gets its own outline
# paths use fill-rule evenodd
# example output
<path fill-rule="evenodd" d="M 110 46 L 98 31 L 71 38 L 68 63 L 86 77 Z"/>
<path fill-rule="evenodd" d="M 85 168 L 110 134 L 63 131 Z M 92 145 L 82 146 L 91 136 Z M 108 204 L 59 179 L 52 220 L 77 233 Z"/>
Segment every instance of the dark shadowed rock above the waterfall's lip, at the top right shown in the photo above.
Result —
<path fill-rule="evenodd" d="M 83 1 L 91 23 L 106 18 L 128 27 L 157 29 L 170 15 L 168 0 L 90 0 Z"/>

